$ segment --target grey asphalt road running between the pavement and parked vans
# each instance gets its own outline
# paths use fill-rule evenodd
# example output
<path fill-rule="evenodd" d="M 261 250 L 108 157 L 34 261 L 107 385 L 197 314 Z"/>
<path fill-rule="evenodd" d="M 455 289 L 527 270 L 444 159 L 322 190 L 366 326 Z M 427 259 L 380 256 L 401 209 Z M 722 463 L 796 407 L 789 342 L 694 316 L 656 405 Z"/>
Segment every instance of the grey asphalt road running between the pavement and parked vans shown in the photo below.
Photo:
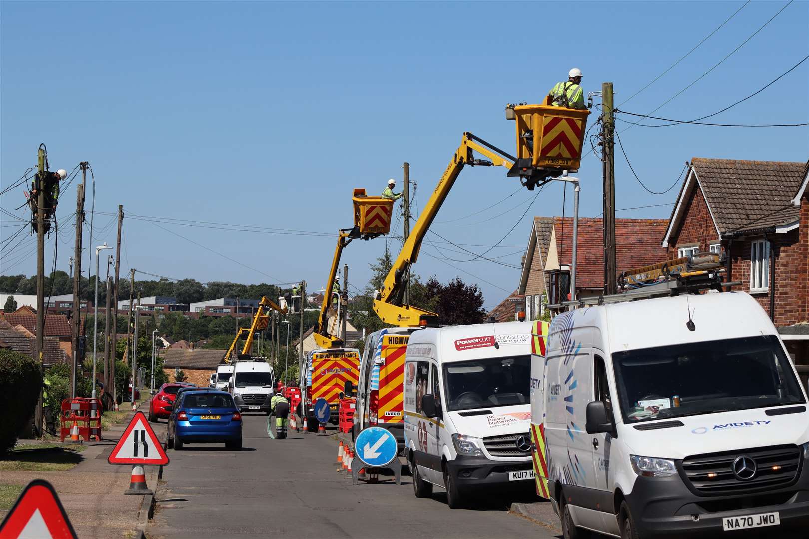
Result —
<path fill-rule="evenodd" d="M 265 416 L 244 418 L 241 451 L 223 444 L 169 450 L 148 537 L 557 537 L 508 512 L 512 501 L 532 499 L 530 485 L 453 510 L 443 489 L 416 498 L 409 476 L 399 486 L 352 486 L 337 472 L 333 436 L 270 440 Z M 165 422 L 154 426 L 165 432 Z"/>

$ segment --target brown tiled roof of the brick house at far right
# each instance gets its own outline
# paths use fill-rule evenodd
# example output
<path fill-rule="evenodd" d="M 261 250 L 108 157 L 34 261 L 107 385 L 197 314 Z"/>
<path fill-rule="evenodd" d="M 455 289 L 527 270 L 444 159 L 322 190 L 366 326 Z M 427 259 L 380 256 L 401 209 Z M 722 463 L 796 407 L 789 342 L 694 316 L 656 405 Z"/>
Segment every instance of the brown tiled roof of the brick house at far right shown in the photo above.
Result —
<path fill-rule="evenodd" d="M 791 200 L 805 162 L 693 158 L 702 192 L 720 234 L 785 225 L 798 219 Z"/>

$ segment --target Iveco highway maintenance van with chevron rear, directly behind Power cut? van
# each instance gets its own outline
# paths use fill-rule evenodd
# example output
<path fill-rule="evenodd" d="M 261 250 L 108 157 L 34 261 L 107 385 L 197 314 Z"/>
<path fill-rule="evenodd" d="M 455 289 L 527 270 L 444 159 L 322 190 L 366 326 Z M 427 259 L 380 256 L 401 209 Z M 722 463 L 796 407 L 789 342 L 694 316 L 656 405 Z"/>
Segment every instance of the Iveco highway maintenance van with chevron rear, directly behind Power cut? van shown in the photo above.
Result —
<path fill-rule="evenodd" d="M 351 434 L 363 428 L 383 427 L 404 448 L 404 352 L 412 327 L 391 327 L 366 337 L 359 365 L 357 402 Z"/>

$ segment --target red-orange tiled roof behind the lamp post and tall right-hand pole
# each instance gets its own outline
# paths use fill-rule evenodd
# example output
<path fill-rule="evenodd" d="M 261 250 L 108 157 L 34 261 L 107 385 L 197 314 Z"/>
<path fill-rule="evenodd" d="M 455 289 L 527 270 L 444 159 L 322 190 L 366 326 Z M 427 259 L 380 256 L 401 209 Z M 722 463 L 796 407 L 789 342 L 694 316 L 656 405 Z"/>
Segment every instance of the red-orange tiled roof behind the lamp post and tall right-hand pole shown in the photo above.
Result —
<path fill-rule="evenodd" d="M 666 250 L 660 238 L 667 219 L 616 219 L 616 269 L 618 273 L 633 267 L 662 262 Z M 573 254 L 573 217 L 553 217 L 560 264 L 569 264 Z M 562 241 L 564 238 L 564 241 Z M 576 288 L 604 288 L 604 221 L 598 218 L 578 220 Z"/>

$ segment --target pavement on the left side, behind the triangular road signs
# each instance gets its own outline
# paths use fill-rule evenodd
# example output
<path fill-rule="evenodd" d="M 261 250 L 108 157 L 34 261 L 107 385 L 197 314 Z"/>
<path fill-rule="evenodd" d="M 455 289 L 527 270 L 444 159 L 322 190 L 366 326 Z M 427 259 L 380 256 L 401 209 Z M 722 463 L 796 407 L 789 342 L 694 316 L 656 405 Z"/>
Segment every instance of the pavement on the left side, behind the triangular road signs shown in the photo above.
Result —
<path fill-rule="evenodd" d="M 104 431 L 104 440 L 85 442 L 84 451 L 78 453 L 82 461 L 74 468 L 57 472 L 4 470 L 0 474 L 2 482 L 26 485 L 35 478 L 49 481 L 56 489 L 78 537 L 83 539 L 141 537 L 138 524 L 142 517 L 144 496 L 124 494 L 129 488 L 132 466 L 107 463 L 109 453 L 132 415 L 130 413 L 123 423 Z M 20 441 L 36 443 L 38 440 Z M 147 484 L 150 488 L 155 488 L 159 467 L 145 466 L 145 469 Z M 0 511 L 0 518 L 5 513 Z"/>

